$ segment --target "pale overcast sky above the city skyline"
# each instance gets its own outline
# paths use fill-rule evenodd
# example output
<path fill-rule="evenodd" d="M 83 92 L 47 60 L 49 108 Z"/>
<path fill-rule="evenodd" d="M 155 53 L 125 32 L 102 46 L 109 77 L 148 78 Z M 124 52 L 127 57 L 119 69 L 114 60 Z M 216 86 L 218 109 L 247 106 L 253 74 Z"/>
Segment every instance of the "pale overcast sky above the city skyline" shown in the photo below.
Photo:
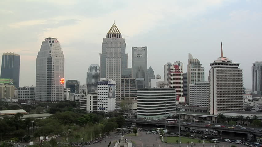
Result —
<path fill-rule="evenodd" d="M 1 0 L 0 6 L 0 54 L 20 54 L 20 86 L 35 85 L 36 58 L 47 37 L 61 43 L 65 79 L 85 83 L 114 20 L 125 38 L 128 66 L 132 46 L 147 46 L 148 67 L 162 78 L 166 62 L 183 62 L 185 73 L 191 53 L 208 80 L 220 41 L 224 56 L 240 63 L 245 88 L 252 87 L 252 63 L 262 60 L 260 0 Z"/>

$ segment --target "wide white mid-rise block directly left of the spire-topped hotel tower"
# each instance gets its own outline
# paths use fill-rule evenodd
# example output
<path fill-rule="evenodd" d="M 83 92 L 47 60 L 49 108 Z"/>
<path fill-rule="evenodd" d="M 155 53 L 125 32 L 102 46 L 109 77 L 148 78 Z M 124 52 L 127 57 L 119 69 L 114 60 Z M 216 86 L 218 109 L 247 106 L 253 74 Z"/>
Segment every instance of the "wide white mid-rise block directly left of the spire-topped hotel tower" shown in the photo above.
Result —
<path fill-rule="evenodd" d="M 209 105 L 209 81 L 189 84 L 189 105 L 208 107 Z"/>

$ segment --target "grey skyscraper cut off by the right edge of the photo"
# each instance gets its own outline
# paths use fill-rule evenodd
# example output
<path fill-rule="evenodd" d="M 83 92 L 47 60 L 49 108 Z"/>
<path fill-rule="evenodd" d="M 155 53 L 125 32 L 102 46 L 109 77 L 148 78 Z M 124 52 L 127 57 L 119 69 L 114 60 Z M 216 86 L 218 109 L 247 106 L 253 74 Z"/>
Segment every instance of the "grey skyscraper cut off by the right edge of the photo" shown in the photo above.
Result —
<path fill-rule="evenodd" d="M 255 61 L 252 66 L 252 91 L 262 95 L 262 62 Z"/>

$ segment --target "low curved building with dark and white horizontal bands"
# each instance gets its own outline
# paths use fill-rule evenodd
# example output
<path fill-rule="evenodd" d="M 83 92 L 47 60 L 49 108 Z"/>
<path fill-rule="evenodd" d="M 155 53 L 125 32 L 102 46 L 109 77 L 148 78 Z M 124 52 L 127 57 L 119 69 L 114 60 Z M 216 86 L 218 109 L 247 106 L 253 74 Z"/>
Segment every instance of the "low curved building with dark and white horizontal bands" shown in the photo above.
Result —
<path fill-rule="evenodd" d="M 176 90 L 174 88 L 138 88 L 137 117 L 162 119 L 176 114 Z"/>

